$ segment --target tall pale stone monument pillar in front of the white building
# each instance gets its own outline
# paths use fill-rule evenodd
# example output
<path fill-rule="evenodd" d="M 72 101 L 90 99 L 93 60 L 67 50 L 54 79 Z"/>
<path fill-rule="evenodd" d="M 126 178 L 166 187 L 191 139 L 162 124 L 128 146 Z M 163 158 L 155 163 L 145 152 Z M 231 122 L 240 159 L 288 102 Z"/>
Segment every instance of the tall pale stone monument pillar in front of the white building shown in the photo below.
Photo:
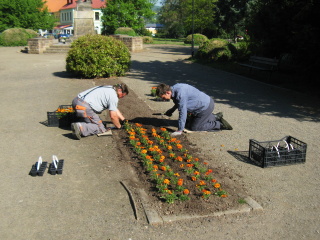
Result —
<path fill-rule="evenodd" d="M 91 1 L 77 1 L 77 8 L 74 11 L 73 30 L 75 37 L 95 34 L 94 12 L 92 11 Z"/>

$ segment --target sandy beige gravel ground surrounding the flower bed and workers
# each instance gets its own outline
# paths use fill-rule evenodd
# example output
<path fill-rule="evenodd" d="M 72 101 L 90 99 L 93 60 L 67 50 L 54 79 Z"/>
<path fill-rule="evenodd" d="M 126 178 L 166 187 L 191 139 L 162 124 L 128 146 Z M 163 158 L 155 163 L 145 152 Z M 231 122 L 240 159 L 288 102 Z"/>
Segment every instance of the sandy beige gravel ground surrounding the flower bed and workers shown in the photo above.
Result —
<path fill-rule="evenodd" d="M 120 184 L 131 171 L 112 138 L 76 141 L 69 130 L 40 123 L 47 111 L 69 104 L 95 81 L 66 74 L 64 54 L 0 48 L 0 239 L 320 239 L 319 101 L 191 64 L 184 61 L 190 56 L 186 47 L 146 47 L 132 54 L 132 70 L 120 79 L 144 102 L 133 107 L 168 109 L 172 103 L 149 96 L 160 82 L 189 83 L 212 96 L 234 130 L 192 133 L 188 139 L 210 165 L 229 169 L 264 211 L 160 226 L 135 220 Z M 245 157 L 249 139 L 287 135 L 308 144 L 305 164 L 263 169 Z M 39 156 L 51 162 L 52 154 L 65 160 L 62 175 L 28 175 Z"/>

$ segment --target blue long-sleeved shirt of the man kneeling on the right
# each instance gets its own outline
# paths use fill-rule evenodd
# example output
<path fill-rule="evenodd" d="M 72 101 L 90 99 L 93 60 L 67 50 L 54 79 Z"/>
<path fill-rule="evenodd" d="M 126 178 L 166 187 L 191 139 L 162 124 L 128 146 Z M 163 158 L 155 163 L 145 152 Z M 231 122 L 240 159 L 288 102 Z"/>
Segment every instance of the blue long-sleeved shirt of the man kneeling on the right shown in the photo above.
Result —
<path fill-rule="evenodd" d="M 177 83 L 171 89 L 171 99 L 175 104 L 172 110 L 179 110 L 178 130 L 182 131 L 186 125 L 188 112 L 197 115 L 207 109 L 210 104 L 210 97 L 185 83 Z"/>

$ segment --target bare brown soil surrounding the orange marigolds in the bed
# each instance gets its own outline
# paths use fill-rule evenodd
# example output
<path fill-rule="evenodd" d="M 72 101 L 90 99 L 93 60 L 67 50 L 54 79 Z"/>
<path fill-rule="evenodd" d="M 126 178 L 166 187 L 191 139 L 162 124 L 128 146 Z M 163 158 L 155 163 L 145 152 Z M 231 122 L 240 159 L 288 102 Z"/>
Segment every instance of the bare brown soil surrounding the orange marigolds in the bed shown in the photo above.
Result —
<path fill-rule="evenodd" d="M 117 82 L 111 79 L 100 79 L 96 81 L 96 85 L 115 83 Z M 168 120 L 163 119 L 161 116 L 152 115 L 153 112 L 147 104 L 139 99 L 133 91 L 129 92 L 129 95 L 125 98 L 120 99 L 119 109 L 132 123 L 143 124 L 143 127 L 147 129 L 151 129 L 152 127 L 165 127 L 170 131 L 170 127 L 176 125 L 176 121 L 168 122 Z M 108 121 L 108 119 L 106 120 Z M 122 152 L 122 160 L 126 161 L 128 165 L 134 169 L 136 174 L 136 178 L 129 181 L 130 190 L 133 194 L 137 194 L 138 189 L 144 189 L 149 196 L 149 204 L 160 215 L 207 215 L 227 209 L 236 209 L 240 206 L 239 200 L 246 197 L 244 187 L 236 182 L 226 169 L 207 166 L 213 170 L 212 174 L 214 179 L 216 179 L 217 182 L 221 184 L 222 189 L 227 192 L 228 196 L 226 198 L 211 195 L 208 199 L 203 199 L 199 190 L 196 189 L 194 182 L 189 180 L 185 182 L 189 182 L 187 188 L 193 193 L 190 195 L 190 200 L 175 201 L 173 204 L 168 204 L 160 198 L 160 194 L 155 188 L 155 182 L 150 179 L 150 175 L 143 167 L 141 160 L 137 158 L 132 147 L 128 144 L 128 134 L 126 131 L 124 129 L 113 131 L 113 138 L 117 141 L 117 146 Z M 198 151 L 195 143 L 190 143 L 185 135 L 179 136 L 178 139 L 184 148 L 188 149 L 188 154 L 194 158 L 199 158 L 202 162 L 205 161 L 205 156 Z M 181 169 L 179 169 L 177 164 L 170 166 L 174 172 L 180 171 L 181 173 Z M 184 178 L 186 179 L 185 176 Z M 136 197 L 139 198 L 139 196 Z"/>

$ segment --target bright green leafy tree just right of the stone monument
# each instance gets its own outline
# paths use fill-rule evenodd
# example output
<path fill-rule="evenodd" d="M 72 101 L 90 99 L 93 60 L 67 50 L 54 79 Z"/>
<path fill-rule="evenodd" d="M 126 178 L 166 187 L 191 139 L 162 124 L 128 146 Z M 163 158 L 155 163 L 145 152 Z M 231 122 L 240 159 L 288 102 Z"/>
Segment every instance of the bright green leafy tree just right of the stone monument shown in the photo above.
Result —
<path fill-rule="evenodd" d="M 103 32 L 114 34 L 119 27 L 130 27 L 137 33 L 145 28 L 145 19 L 152 17 L 154 0 L 112 0 L 102 9 Z"/>

